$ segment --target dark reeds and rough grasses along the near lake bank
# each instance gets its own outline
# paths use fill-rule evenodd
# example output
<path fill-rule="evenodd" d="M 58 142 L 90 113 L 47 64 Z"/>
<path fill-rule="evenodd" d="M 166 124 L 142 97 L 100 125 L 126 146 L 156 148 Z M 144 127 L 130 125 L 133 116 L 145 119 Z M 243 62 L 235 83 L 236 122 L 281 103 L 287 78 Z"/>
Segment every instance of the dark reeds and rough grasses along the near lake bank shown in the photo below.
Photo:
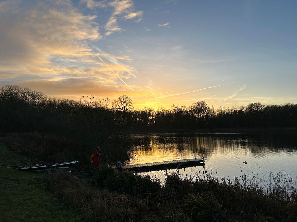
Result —
<path fill-rule="evenodd" d="M 90 221 L 296 221 L 297 193 L 275 179 L 263 187 L 244 178 L 233 183 L 209 174 L 149 176 L 107 165 L 87 185 L 67 173 L 50 174 L 50 189 Z"/>

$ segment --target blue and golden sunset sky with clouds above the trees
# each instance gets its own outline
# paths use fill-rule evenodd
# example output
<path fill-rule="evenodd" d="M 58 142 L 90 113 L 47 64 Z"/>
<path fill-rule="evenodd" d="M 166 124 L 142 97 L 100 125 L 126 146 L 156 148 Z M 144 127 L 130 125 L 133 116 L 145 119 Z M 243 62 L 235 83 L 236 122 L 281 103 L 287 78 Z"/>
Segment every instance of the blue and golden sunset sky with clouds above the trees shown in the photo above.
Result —
<path fill-rule="evenodd" d="M 0 1 L 0 86 L 135 107 L 297 103 L 297 1 Z"/>

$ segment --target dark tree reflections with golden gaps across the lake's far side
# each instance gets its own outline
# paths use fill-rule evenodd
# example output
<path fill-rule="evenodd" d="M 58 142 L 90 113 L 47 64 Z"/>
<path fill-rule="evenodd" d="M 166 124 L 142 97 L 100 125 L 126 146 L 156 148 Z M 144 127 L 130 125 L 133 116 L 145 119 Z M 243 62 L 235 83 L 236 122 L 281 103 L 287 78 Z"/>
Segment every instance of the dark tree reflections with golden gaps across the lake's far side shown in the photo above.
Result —
<path fill-rule="evenodd" d="M 133 135 L 129 146 L 139 157 L 189 157 L 231 153 L 263 156 L 273 152 L 294 152 L 296 134 L 151 134 Z"/>

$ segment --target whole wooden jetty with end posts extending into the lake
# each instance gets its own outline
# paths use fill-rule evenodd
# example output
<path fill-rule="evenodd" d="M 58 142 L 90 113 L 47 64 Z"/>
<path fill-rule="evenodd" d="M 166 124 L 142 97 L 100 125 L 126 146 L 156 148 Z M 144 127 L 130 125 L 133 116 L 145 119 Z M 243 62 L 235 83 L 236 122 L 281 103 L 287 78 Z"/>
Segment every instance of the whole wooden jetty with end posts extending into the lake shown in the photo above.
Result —
<path fill-rule="evenodd" d="M 194 159 L 185 159 L 185 160 L 169 160 L 155 163 L 141 163 L 134 165 L 125 165 L 122 166 L 123 170 L 134 170 L 134 171 L 149 171 L 156 168 L 165 169 L 168 168 L 182 168 L 186 165 L 204 165 L 204 157 L 202 159 L 197 159 L 194 156 Z"/>

